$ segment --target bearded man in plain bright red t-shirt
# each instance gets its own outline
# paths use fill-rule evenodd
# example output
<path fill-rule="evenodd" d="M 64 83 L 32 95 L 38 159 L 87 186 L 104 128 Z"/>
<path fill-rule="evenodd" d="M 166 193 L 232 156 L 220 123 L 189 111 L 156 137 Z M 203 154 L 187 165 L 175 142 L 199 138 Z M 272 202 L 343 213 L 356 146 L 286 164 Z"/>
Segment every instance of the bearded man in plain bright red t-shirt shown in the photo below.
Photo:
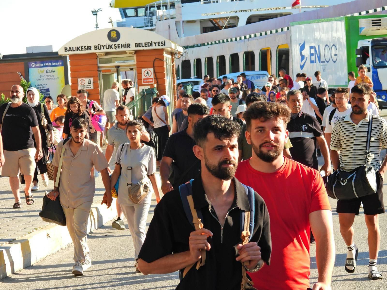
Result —
<path fill-rule="evenodd" d="M 257 102 L 245 112 L 252 158 L 238 165 L 236 178 L 264 199 L 270 214 L 270 266 L 249 273 L 259 290 L 309 288 L 310 229 L 316 240 L 319 280 L 313 290 L 331 289 L 335 259 L 332 213 L 318 171 L 283 156 L 289 132 L 288 107 Z"/>

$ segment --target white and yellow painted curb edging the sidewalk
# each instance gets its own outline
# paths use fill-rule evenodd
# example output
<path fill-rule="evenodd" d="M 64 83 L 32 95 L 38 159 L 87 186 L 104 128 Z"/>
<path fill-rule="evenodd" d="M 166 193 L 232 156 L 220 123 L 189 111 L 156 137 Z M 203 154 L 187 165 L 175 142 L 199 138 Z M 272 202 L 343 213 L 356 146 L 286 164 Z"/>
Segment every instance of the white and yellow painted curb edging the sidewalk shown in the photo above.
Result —
<path fill-rule="evenodd" d="M 98 203 L 93 204 L 87 220 L 87 234 L 112 220 L 116 215 L 114 200 L 110 208 Z M 67 227 L 51 223 L 43 229 L 0 247 L 0 280 L 31 266 L 71 243 Z"/>

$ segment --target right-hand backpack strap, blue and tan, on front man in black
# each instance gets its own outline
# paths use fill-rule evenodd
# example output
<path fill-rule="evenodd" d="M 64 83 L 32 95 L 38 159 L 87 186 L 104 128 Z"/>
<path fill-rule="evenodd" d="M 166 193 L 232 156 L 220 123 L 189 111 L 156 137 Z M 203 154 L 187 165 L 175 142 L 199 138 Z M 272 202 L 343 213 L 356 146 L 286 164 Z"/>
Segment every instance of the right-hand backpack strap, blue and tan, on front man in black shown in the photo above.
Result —
<path fill-rule="evenodd" d="M 245 188 L 248 203 L 250 205 L 250 212 L 240 212 L 241 240 L 242 245 L 245 245 L 251 240 L 254 230 L 255 196 L 254 190 L 250 186 L 246 186 L 245 184 L 242 185 Z M 255 289 L 254 287 L 252 287 L 252 285 L 254 285 L 254 283 L 253 281 L 250 281 L 250 279 L 247 277 L 245 263 L 243 263 L 241 290 Z"/>

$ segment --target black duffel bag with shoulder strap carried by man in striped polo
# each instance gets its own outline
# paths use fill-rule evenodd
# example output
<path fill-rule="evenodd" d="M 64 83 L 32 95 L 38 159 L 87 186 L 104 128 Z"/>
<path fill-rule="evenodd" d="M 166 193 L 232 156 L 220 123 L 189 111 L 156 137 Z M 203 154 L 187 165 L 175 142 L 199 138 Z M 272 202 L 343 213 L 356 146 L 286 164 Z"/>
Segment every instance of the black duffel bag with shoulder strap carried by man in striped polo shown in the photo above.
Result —
<path fill-rule="evenodd" d="M 365 150 L 365 165 L 355 168 L 353 171 L 341 171 L 337 168 L 329 177 L 327 182 L 328 196 L 335 200 L 352 200 L 369 194 L 375 194 L 377 190 L 375 168 L 368 166 L 368 155 L 370 155 L 372 131 L 372 114 L 368 122 L 367 142 Z"/>

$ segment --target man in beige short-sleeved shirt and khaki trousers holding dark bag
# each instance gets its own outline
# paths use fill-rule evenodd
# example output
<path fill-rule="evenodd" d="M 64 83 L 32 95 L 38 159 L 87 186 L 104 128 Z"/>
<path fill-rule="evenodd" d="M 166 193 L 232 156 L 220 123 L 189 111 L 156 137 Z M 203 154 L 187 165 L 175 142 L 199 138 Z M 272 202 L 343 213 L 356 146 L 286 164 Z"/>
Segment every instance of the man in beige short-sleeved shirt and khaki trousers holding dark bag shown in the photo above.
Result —
<path fill-rule="evenodd" d="M 47 195 L 51 200 L 55 200 L 59 195 L 66 216 L 67 229 L 74 243 L 75 264 L 72 270 L 74 275 L 82 275 L 83 271 L 91 266 L 86 235 L 87 218 L 96 189 L 94 176 L 91 175 L 92 167 L 101 172 L 106 190 L 101 204 L 105 203 L 109 208 L 113 200 L 107 170 L 108 162 L 98 145 L 85 139 L 87 126 L 84 119 L 74 119 L 70 127 L 71 138 L 67 139 L 64 145 L 66 140 L 58 143 L 53 159 L 54 179 L 57 177 L 62 148 L 65 148 L 59 188 L 54 187 Z"/>

